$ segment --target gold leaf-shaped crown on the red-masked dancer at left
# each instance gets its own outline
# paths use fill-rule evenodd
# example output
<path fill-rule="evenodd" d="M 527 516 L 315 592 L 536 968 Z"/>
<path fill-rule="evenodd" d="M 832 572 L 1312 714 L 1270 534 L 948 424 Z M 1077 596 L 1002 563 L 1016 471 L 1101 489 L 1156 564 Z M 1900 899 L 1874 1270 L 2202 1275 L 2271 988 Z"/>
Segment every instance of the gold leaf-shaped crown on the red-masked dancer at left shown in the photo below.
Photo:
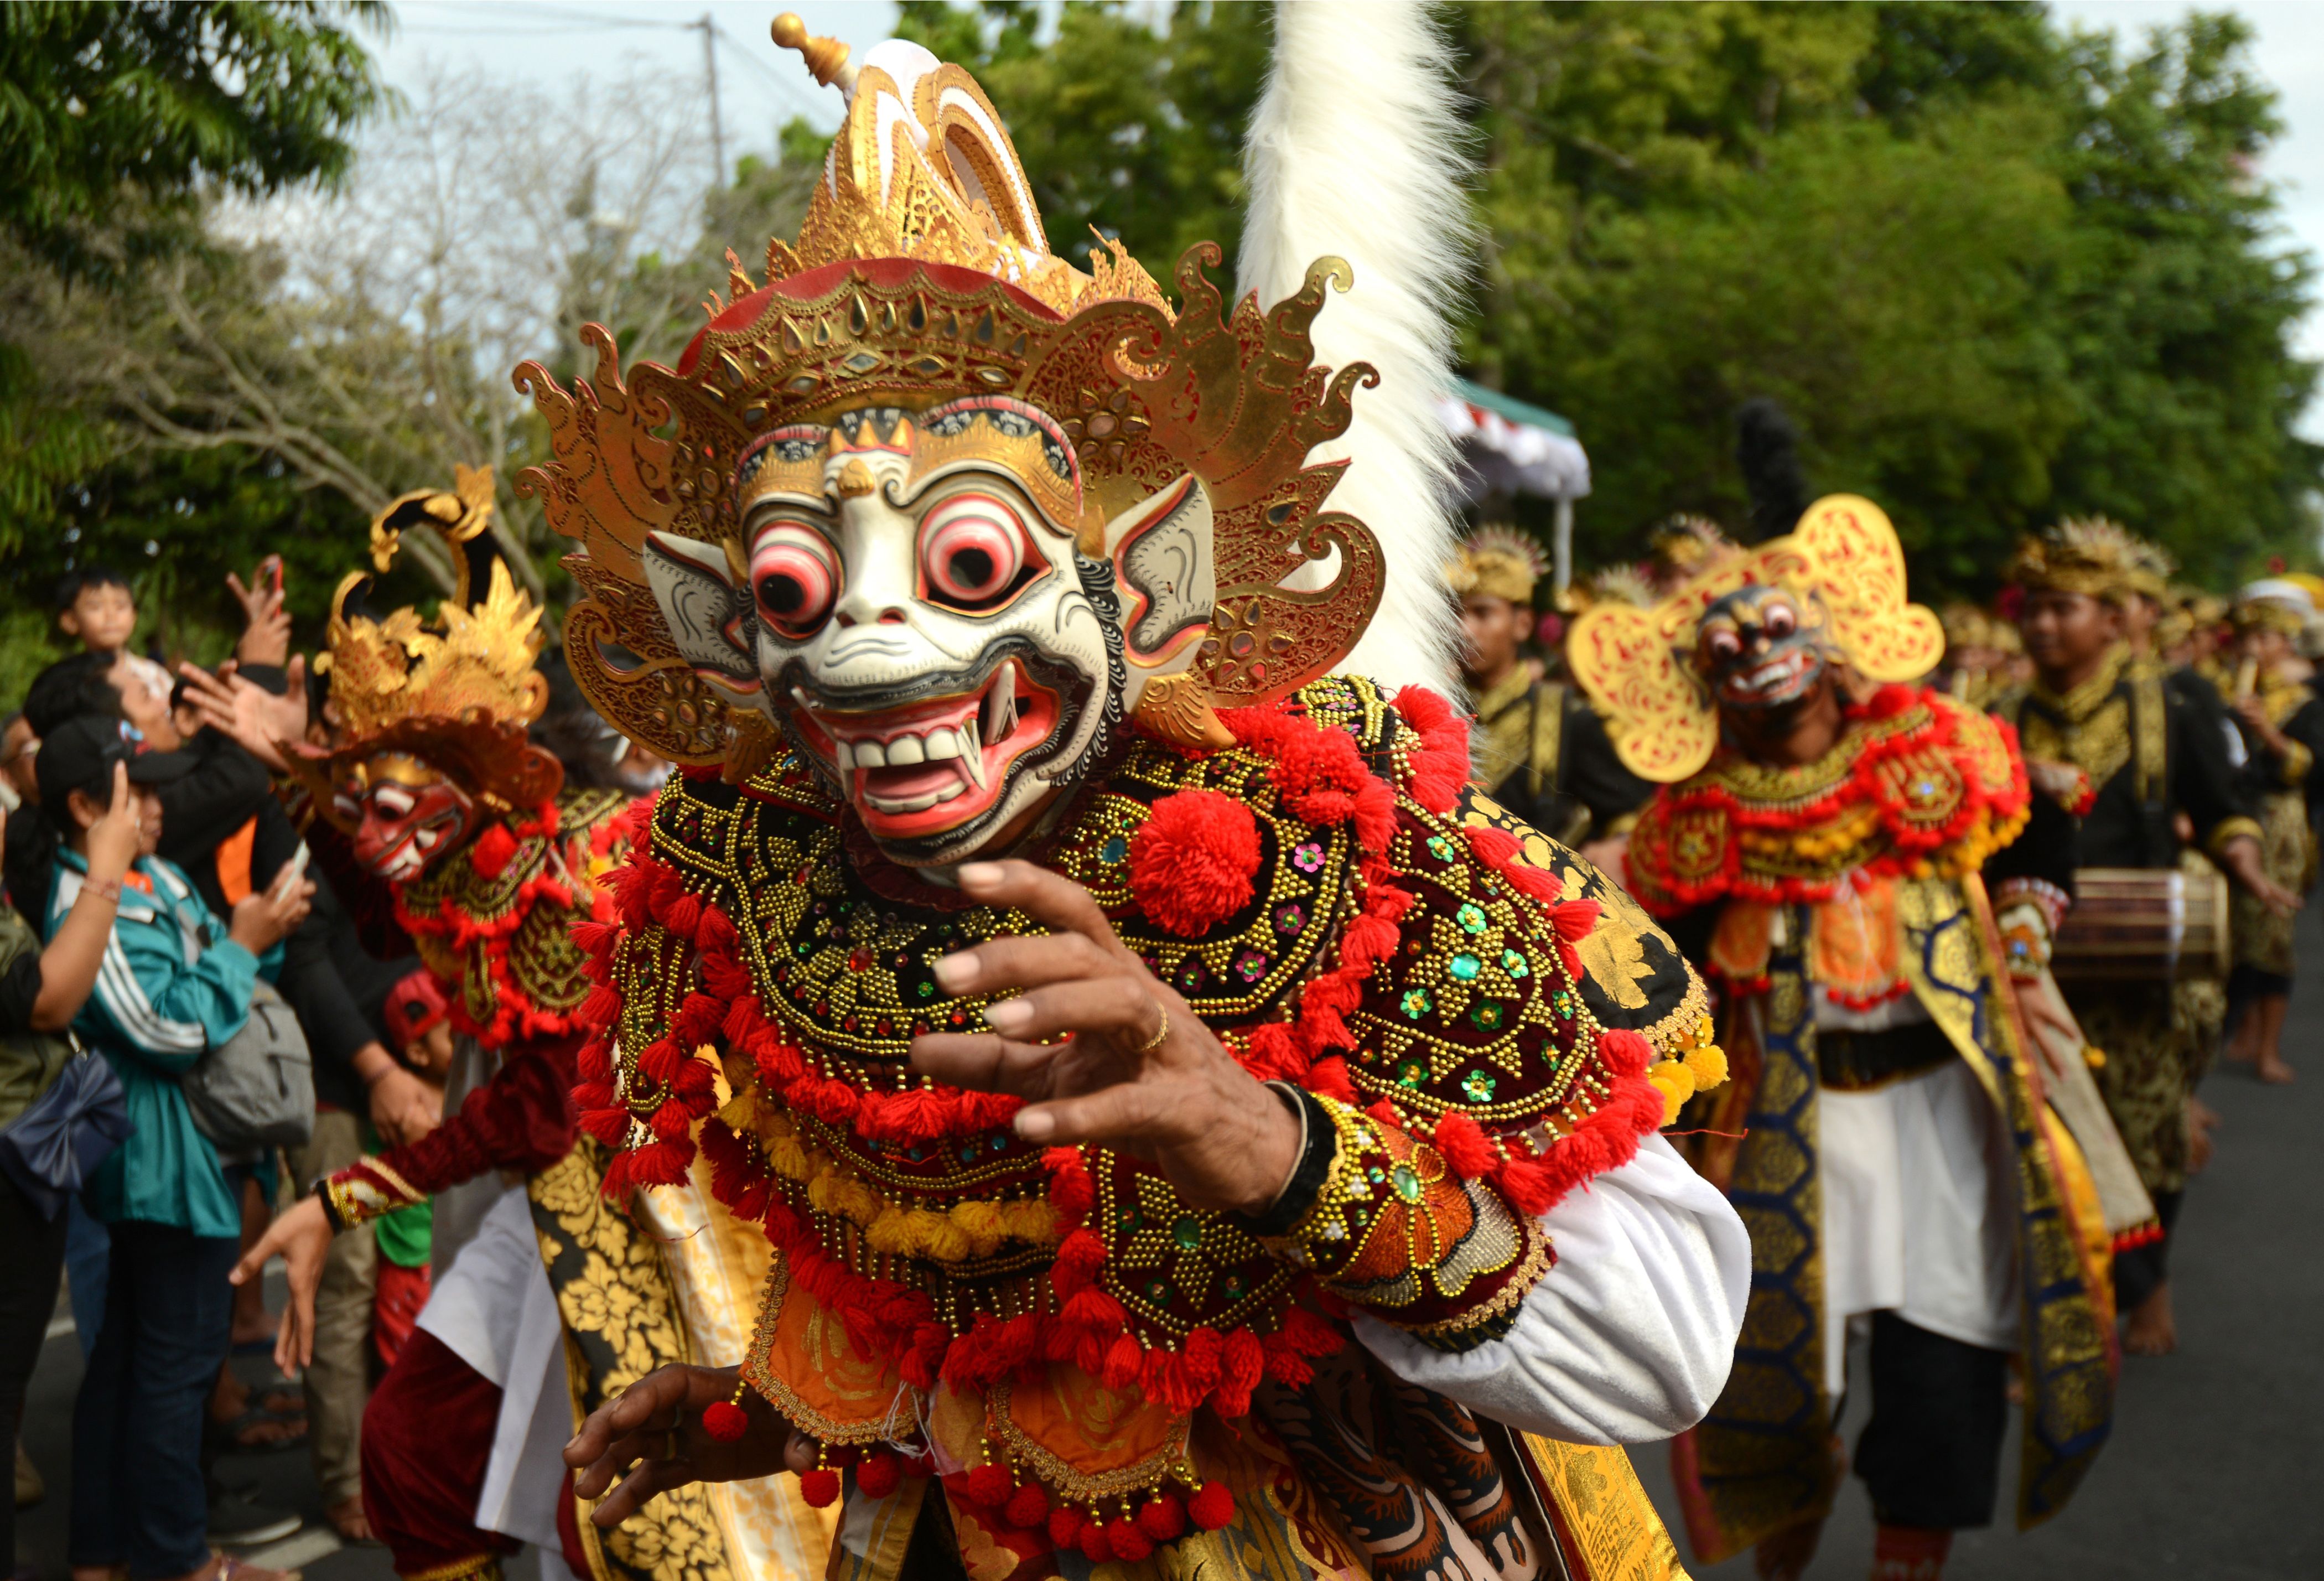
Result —
<path fill-rule="evenodd" d="M 316 809 L 342 828 L 351 830 L 335 786 L 381 753 L 421 758 L 497 811 L 541 807 L 565 784 L 558 760 L 525 735 L 548 707 L 548 681 L 535 665 L 546 644 L 541 607 L 500 558 L 483 598 L 472 600 L 465 546 L 490 523 L 490 467 L 460 467 L 453 488 L 418 488 L 372 518 L 372 565 L 381 572 L 395 565 L 411 528 L 432 528 L 453 551 L 453 595 L 432 628 L 411 604 L 383 618 L 351 614 L 346 600 L 367 581 L 360 570 L 342 577 L 330 598 L 325 651 L 314 667 L 330 679 L 342 739 L 328 753 L 297 742 L 281 746 Z"/>

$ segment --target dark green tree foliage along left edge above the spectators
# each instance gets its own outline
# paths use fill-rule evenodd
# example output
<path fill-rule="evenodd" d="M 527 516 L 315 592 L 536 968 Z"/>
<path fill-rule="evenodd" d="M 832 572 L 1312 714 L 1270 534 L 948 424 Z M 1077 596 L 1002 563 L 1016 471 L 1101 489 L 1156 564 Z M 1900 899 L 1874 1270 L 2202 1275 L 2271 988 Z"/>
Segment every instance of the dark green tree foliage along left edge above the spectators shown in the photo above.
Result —
<path fill-rule="evenodd" d="M 200 242 L 202 205 L 335 179 L 379 105 L 346 21 L 381 5 L 167 0 L 0 7 L 0 702 L 63 649 L 49 595 L 105 560 L 139 584 L 139 642 L 214 656 L 237 621 L 218 586 L 267 546 L 300 558 L 332 502 L 249 451 L 139 449 L 63 379 L 70 319 L 123 335 L 135 288 Z M 265 535 L 265 537 L 263 537 Z M 358 523 L 360 535 L 360 523 Z M 149 549 L 151 544 L 151 549 Z M 167 546 L 167 553 L 163 553 Z M 256 549 L 256 553 L 253 553 Z M 321 577 L 321 567 L 316 567 Z M 293 581 L 293 595 L 302 591 Z M 328 598 L 328 584 L 321 591 Z"/>

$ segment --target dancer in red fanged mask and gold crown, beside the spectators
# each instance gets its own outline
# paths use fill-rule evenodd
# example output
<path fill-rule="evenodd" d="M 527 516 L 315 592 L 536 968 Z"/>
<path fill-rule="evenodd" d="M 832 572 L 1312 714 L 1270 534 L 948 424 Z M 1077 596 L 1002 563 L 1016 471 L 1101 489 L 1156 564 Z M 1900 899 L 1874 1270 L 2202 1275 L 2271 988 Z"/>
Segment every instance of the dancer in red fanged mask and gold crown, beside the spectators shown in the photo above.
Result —
<path fill-rule="evenodd" d="M 528 739 L 548 700 L 541 609 L 493 553 L 490 514 L 490 470 L 381 512 L 374 570 L 428 525 L 451 549 L 453 595 L 437 625 L 409 607 L 372 618 L 349 574 L 321 660 L 342 742 L 281 746 L 365 946 L 416 951 L 444 988 L 449 1114 L 314 1181 L 239 1274 L 286 1253 L 277 1360 L 302 1365 L 330 1235 L 435 1197 L 435 1288 L 363 1416 L 363 1509 L 397 1574 L 490 1579 L 530 1541 L 544 1572 L 597 1581 L 806 1576 L 825 1521 L 783 1488 L 690 1488 L 600 1530 L 558 1458 L 581 1416 L 655 1365 L 739 1355 L 767 1260 L 686 1179 L 607 1202 L 609 1153 L 576 1139 L 590 990 L 576 925 L 609 923 L 602 884 L 634 818 L 618 791 L 565 786 Z"/>

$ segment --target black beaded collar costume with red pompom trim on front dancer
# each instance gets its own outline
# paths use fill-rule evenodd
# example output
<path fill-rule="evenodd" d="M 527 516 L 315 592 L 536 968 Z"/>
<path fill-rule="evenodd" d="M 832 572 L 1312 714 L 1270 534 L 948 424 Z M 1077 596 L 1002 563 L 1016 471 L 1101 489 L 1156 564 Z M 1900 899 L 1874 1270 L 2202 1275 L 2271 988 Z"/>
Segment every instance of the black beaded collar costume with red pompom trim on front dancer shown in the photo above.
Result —
<path fill-rule="evenodd" d="M 1529 1216 L 1662 1123 L 1645 1065 L 1697 1042 L 1699 981 L 1599 874 L 1459 791 L 1441 702 L 1334 677 L 1227 721 L 1215 753 L 1134 737 L 1043 860 L 1255 1074 L 1350 1107 L 1322 1256 L 1127 1156 L 1018 1142 L 1013 1097 L 911 1076 L 913 1035 L 983 1028 L 988 1000 L 932 963 L 1039 925 L 865 851 L 790 760 L 672 781 L 614 881 L 625 925 L 583 930 L 593 1009 L 618 1007 L 618 1056 L 583 1053 L 583 1125 L 648 1179 L 709 1114 L 713 1190 L 786 1265 L 746 1379 L 827 1444 L 892 1439 L 941 1383 L 981 1407 L 971 1465 L 1076 1502 L 1192 1486 L 1190 1416 L 1301 1383 L 1346 1302 L 1443 1348 L 1504 1332 L 1552 1256 Z M 1257 860 L 1185 937 L 1139 872 L 1202 795 L 1248 809 Z M 1118 1442 L 1069 1428 L 1092 1395 Z"/>

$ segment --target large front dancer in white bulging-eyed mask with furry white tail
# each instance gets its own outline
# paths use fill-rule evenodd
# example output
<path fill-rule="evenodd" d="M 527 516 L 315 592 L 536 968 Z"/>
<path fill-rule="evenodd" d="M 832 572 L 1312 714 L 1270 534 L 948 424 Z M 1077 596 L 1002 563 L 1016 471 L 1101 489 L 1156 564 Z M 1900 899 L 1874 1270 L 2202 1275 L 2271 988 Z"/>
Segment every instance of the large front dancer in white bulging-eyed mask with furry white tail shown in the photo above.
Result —
<path fill-rule="evenodd" d="M 1443 679 L 1436 463 L 1371 523 L 1311 451 L 1373 377 L 1418 421 L 1350 495 L 1436 444 L 1455 260 L 1404 239 L 1455 123 L 1418 7 L 1276 28 L 1246 249 L 1367 193 L 1376 274 L 1076 267 L 964 70 L 783 19 L 848 98 L 797 242 L 674 370 L 523 372 L 576 679 L 683 767 L 588 937 L 581 1123 L 776 1256 L 739 1369 L 588 1421 L 597 1521 L 788 1467 L 848 1581 L 1673 1574 L 1611 1446 L 1741 1309 L 1655 1135 L 1703 990 L 1443 695 L 1336 674 L 1378 609 Z M 1350 274 L 1408 305 L 1378 372 L 1315 363 Z"/>

